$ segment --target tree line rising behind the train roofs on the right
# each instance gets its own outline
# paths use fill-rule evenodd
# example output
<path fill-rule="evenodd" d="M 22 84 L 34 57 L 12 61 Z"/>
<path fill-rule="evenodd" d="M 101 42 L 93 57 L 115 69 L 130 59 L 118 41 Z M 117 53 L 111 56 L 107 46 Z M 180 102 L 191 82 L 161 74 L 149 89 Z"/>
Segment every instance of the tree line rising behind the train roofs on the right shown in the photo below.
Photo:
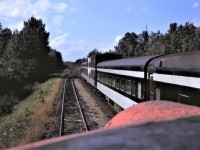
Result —
<path fill-rule="evenodd" d="M 171 23 L 167 33 L 146 29 L 140 34 L 127 32 L 115 46 L 115 53 L 123 58 L 181 53 L 200 50 L 200 28 L 186 22 L 184 25 Z"/>

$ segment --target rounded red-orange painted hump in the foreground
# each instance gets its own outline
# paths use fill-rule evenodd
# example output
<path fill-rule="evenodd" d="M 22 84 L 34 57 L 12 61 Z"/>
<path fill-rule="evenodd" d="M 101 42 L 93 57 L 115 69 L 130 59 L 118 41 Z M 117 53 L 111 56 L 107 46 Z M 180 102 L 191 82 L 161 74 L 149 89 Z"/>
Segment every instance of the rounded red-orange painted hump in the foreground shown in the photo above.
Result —
<path fill-rule="evenodd" d="M 200 115 L 199 107 L 169 101 L 149 101 L 134 105 L 120 112 L 105 125 L 105 128 L 175 120 L 194 115 Z"/>

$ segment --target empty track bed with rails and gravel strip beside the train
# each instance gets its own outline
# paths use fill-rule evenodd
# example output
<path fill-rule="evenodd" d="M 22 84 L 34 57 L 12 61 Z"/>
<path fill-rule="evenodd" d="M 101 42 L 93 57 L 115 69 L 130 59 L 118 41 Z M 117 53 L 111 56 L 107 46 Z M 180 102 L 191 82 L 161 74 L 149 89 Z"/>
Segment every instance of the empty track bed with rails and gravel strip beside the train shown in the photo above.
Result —
<path fill-rule="evenodd" d="M 66 78 L 63 89 L 60 136 L 98 129 L 116 114 L 79 78 Z"/>

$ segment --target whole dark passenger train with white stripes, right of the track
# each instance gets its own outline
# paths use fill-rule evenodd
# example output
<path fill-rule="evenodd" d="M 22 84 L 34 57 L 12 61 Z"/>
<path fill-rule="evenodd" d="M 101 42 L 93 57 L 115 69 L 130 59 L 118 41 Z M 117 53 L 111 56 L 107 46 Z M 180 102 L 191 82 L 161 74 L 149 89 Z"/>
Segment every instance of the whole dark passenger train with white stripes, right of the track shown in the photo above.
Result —
<path fill-rule="evenodd" d="M 200 106 L 200 51 L 122 59 L 88 58 L 81 76 L 118 111 L 148 100 Z"/>

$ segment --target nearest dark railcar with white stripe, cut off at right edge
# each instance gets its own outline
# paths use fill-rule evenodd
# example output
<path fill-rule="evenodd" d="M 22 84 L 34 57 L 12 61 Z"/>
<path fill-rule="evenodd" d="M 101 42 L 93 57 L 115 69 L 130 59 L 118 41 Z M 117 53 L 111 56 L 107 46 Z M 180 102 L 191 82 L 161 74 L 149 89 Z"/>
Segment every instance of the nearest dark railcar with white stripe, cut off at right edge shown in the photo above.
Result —
<path fill-rule="evenodd" d="M 155 58 L 148 72 L 148 99 L 200 106 L 200 51 Z"/>

